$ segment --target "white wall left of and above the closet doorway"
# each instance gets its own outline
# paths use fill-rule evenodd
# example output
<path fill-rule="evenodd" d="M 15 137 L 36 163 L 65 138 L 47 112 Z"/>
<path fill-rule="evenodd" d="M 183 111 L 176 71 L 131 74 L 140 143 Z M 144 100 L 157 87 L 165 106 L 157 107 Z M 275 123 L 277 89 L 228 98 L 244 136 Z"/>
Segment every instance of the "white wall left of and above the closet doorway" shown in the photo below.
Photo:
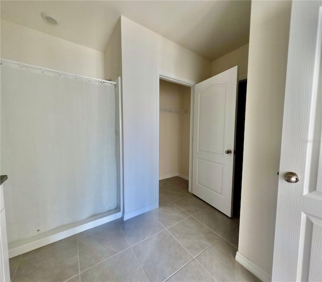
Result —
<path fill-rule="evenodd" d="M 125 219 L 157 206 L 156 70 L 198 83 L 211 62 L 121 17 Z M 158 80 L 158 79 L 157 79 Z"/>

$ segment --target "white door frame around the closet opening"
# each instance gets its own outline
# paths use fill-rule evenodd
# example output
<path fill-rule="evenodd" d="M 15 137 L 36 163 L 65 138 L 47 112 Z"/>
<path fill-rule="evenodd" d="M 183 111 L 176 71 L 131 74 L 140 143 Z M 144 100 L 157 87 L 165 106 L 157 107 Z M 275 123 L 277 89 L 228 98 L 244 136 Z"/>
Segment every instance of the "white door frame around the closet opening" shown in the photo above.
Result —
<path fill-rule="evenodd" d="M 194 105 L 194 86 L 196 84 L 195 81 L 178 77 L 174 74 L 169 74 L 163 72 L 160 69 L 155 70 L 155 93 L 156 93 L 156 101 L 155 101 L 155 112 L 156 112 L 156 126 L 155 126 L 155 206 L 159 206 L 159 122 L 160 122 L 160 79 L 169 81 L 175 84 L 180 84 L 183 86 L 190 87 L 190 140 L 189 140 L 189 191 L 191 192 L 191 184 L 192 184 L 192 143 L 193 143 L 193 105 Z"/>

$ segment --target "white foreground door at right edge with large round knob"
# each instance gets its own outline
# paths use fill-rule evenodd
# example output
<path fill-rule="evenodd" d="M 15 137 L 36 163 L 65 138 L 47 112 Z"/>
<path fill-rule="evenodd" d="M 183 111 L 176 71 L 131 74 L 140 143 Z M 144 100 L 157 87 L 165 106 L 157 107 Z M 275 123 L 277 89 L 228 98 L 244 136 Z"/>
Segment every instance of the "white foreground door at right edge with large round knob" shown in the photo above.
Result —
<path fill-rule="evenodd" d="M 321 49 L 322 1 L 294 1 L 284 103 L 273 281 L 322 281 Z M 296 173 L 299 181 L 287 182 L 285 178 L 289 172 Z"/>

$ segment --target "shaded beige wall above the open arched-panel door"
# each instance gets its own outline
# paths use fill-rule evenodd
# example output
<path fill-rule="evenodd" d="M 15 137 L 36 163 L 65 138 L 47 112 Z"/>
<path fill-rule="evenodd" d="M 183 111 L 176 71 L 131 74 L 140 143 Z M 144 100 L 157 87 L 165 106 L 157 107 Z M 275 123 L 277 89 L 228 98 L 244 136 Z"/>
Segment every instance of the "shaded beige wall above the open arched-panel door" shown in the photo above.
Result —
<path fill-rule="evenodd" d="M 211 75 L 218 75 L 225 70 L 238 65 L 238 78 L 240 79 L 247 77 L 248 49 L 249 44 L 246 44 L 228 54 L 221 56 L 218 59 L 213 60 L 211 63 Z"/>

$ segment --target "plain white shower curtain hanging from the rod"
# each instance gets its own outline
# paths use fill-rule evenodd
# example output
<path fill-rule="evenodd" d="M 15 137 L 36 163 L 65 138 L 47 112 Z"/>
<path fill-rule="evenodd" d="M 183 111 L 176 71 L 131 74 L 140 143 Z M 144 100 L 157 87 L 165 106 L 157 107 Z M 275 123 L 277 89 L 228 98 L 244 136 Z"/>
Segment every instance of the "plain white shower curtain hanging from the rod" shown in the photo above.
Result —
<path fill-rule="evenodd" d="M 1 65 L 1 173 L 9 243 L 118 205 L 115 87 Z"/>

